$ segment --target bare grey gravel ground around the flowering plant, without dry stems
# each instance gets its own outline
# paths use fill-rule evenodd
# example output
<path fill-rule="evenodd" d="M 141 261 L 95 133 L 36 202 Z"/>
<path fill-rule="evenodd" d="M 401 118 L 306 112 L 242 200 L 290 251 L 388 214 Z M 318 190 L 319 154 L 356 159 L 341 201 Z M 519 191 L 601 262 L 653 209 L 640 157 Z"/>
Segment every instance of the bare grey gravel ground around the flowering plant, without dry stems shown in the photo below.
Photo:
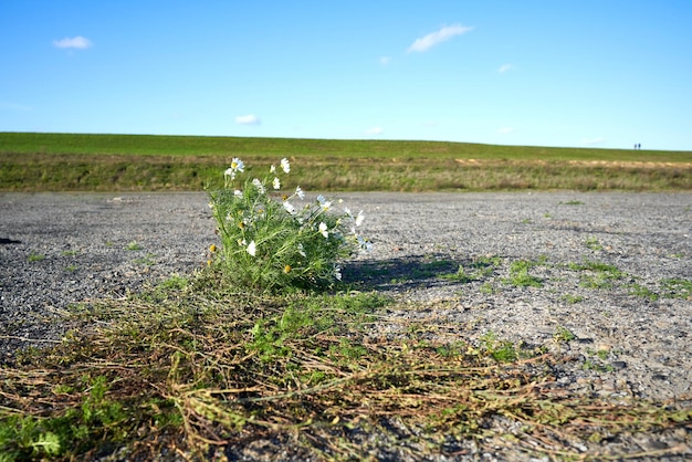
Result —
<path fill-rule="evenodd" d="M 692 393 L 691 193 L 337 197 L 364 210 L 375 244 L 344 277 L 405 302 L 374 335 L 396 337 L 413 321 L 438 326 L 436 339 L 492 333 L 574 358 L 559 377 L 574 390 Z M 59 339 L 51 321 L 70 303 L 199 267 L 213 229 L 203 193 L 0 193 L 0 354 Z M 520 260 L 541 286 L 511 282 Z M 472 281 L 440 277 L 460 265 L 473 275 L 481 262 L 487 271 Z M 596 262 L 617 273 L 585 269 Z M 555 342 L 563 328 L 575 338 Z M 690 440 L 688 428 L 636 444 L 682 444 L 692 456 Z"/>

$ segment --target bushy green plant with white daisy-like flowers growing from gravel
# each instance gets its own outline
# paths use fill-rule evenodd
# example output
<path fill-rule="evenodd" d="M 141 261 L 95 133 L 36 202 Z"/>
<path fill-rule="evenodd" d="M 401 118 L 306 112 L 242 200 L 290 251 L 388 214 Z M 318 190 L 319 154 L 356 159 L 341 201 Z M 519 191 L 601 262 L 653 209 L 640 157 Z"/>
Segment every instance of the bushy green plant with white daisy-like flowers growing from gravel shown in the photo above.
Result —
<path fill-rule="evenodd" d="M 283 158 L 263 178 L 251 177 L 233 158 L 224 187 L 209 193 L 221 239 L 211 263 L 232 283 L 261 290 L 328 285 L 340 280 L 343 259 L 369 250 L 357 232 L 363 212 L 337 211 L 323 196 L 306 200 L 300 186 L 282 192 L 290 172 Z"/>

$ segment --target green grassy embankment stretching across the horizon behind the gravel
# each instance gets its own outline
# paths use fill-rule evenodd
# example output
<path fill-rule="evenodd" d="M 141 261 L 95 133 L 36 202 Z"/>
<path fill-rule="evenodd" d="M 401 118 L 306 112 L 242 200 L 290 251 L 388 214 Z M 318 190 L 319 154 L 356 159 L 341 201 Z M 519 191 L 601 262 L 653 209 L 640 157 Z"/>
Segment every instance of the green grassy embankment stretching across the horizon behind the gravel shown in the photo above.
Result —
<path fill-rule="evenodd" d="M 692 190 L 692 151 L 41 133 L 0 133 L 0 190 L 202 190 L 232 157 L 325 191 Z"/>

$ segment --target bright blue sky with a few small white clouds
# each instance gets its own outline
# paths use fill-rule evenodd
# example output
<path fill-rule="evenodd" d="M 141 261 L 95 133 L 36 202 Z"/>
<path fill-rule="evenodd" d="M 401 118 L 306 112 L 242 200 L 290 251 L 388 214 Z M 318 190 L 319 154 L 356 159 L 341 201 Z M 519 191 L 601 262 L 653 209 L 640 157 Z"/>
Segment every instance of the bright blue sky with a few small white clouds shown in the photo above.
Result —
<path fill-rule="evenodd" d="M 2 0 L 0 132 L 692 150 L 692 1 Z"/>

